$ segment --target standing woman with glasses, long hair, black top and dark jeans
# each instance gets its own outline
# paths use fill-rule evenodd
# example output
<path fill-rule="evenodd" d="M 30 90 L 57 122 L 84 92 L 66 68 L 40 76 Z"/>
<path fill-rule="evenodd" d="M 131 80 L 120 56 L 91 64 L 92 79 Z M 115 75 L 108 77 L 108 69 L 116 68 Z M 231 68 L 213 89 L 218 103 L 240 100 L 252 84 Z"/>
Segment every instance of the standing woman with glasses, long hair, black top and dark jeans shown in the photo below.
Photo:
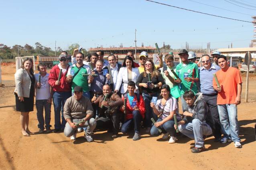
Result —
<path fill-rule="evenodd" d="M 149 79 L 151 79 L 151 81 Z M 163 82 L 163 76 L 155 69 L 154 62 L 151 59 L 146 60 L 144 72 L 140 74 L 136 83 L 138 87 L 141 87 L 145 102 L 146 113 L 143 125 L 147 128 L 146 133 L 150 132 L 152 126 L 151 118 L 154 117 L 155 120 L 157 118 L 157 116 L 153 114 L 152 108 L 150 108 L 150 100 L 152 100 L 153 96 L 159 96 L 159 88 L 163 85 Z"/>

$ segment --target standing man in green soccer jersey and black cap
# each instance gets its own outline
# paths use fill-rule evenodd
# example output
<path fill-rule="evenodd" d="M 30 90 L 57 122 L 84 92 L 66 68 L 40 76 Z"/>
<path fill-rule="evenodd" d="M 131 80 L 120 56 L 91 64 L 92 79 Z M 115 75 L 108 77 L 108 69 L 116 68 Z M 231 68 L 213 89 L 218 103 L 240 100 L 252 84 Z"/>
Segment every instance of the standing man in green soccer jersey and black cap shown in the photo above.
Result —
<path fill-rule="evenodd" d="M 183 94 L 188 90 L 192 90 L 194 94 L 198 92 L 196 82 L 199 82 L 199 72 L 197 64 L 189 62 L 187 50 L 182 49 L 179 52 L 179 56 L 181 63 L 176 66 L 176 74 L 179 76 L 176 82 L 180 84 L 182 110 L 185 112 L 187 103 L 183 98 Z"/>

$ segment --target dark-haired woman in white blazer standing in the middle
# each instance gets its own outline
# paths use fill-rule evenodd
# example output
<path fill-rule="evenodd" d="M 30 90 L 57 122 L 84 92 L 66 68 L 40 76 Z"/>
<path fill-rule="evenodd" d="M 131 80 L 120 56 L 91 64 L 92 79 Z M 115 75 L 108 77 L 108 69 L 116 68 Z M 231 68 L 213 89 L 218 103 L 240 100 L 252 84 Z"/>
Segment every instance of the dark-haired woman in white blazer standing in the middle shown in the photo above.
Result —
<path fill-rule="evenodd" d="M 134 67 L 132 57 L 126 56 L 122 68 L 120 68 L 117 76 L 116 88 L 114 92 L 118 92 L 121 86 L 120 93 L 125 94 L 127 92 L 127 84 L 129 81 L 137 82 L 140 75 L 138 68 Z M 138 90 L 138 87 L 136 87 Z"/>

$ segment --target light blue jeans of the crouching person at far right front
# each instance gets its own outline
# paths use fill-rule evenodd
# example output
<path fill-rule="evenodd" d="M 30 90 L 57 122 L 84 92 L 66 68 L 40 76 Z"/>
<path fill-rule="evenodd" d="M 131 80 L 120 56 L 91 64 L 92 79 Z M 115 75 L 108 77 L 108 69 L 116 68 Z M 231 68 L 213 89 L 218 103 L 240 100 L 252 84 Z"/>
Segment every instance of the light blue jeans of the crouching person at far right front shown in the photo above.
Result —
<path fill-rule="evenodd" d="M 202 148 L 204 145 L 203 135 L 211 135 L 212 129 L 207 123 L 199 119 L 193 119 L 192 123 L 179 125 L 179 131 L 191 139 L 195 139 L 195 147 Z"/>

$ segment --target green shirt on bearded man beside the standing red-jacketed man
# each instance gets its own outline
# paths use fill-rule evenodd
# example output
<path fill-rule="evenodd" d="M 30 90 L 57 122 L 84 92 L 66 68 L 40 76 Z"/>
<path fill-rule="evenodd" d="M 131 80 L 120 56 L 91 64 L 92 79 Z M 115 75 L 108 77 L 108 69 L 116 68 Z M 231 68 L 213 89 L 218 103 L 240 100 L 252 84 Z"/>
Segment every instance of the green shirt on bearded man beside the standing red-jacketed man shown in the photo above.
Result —
<path fill-rule="evenodd" d="M 75 77 L 73 77 L 72 83 L 71 83 L 72 93 L 74 92 L 75 86 L 81 86 L 83 88 L 83 92 L 89 92 L 89 84 L 88 84 L 89 77 L 83 76 L 83 74 L 91 74 L 90 67 L 83 65 L 79 70 L 79 68 L 75 64 L 73 64 L 71 67 L 69 67 L 67 76 L 70 75 L 70 70 L 74 70 L 74 74 L 75 74 Z"/>

